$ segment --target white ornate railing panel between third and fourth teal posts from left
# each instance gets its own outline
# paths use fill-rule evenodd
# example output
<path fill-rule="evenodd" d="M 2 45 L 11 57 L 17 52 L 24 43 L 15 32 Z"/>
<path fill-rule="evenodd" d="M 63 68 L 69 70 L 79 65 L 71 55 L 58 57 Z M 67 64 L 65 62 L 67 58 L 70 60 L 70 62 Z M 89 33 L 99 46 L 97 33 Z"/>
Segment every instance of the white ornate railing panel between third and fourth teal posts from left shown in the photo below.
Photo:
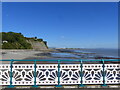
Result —
<path fill-rule="evenodd" d="M 60 84 L 80 84 L 80 64 L 61 64 Z"/>

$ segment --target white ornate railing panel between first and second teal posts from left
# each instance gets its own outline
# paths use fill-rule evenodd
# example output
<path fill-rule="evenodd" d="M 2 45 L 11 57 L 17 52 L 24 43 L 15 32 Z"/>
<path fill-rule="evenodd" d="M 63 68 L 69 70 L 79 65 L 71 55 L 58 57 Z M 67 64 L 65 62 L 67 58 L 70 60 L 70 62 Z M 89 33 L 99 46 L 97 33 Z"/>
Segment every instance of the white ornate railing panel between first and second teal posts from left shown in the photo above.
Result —
<path fill-rule="evenodd" d="M 34 64 L 13 64 L 12 84 L 13 85 L 33 85 L 34 84 Z"/>

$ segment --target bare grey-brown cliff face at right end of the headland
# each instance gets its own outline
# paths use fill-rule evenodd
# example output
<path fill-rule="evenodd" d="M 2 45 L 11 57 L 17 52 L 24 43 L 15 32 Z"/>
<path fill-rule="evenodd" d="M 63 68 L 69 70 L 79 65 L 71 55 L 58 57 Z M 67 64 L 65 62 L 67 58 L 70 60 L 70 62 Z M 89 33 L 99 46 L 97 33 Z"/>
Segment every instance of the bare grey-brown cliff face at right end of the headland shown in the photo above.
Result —
<path fill-rule="evenodd" d="M 32 45 L 32 48 L 35 50 L 47 50 L 48 49 L 44 41 L 27 40 L 27 42 L 30 43 Z"/>

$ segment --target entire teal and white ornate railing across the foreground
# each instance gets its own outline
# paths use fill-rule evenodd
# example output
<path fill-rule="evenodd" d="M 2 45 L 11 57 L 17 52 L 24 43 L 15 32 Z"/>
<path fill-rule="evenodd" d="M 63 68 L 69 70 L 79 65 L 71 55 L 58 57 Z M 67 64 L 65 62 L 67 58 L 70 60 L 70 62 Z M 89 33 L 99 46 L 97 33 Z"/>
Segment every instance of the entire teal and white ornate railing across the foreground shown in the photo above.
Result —
<path fill-rule="evenodd" d="M 1 60 L 10 64 L 0 64 L 0 85 L 9 87 L 31 85 L 107 85 L 120 84 L 120 64 L 105 64 L 117 60 Z M 34 64 L 14 64 L 14 61 L 33 61 Z M 57 61 L 57 64 L 37 64 L 36 61 Z M 61 64 L 64 61 L 78 64 Z M 101 61 L 102 64 L 83 62 Z"/>

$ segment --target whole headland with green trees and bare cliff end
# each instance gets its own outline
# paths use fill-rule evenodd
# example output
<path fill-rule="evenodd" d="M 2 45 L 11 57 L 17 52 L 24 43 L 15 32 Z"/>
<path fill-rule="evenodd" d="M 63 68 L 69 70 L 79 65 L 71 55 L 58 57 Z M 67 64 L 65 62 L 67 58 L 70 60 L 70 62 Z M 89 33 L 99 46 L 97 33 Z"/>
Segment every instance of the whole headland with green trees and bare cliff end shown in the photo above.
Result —
<path fill-rule="evenodd" d="M 21 33 L 1 32 L 2 49 L 47 49 L 47 42 L 37 37 L 24 37 Z"/>

